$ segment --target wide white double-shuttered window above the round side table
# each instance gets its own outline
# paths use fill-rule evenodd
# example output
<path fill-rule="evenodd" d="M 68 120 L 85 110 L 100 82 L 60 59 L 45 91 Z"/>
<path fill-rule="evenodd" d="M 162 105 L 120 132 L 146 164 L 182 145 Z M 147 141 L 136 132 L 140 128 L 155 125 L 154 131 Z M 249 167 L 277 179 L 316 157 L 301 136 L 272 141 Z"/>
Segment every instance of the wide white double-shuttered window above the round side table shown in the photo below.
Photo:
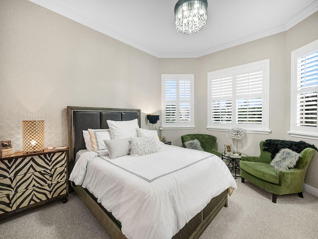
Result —
<path fill-rule="evenodd" d="M 208 129 L 269 133 L 269 59 L 208 73 Z"/>

